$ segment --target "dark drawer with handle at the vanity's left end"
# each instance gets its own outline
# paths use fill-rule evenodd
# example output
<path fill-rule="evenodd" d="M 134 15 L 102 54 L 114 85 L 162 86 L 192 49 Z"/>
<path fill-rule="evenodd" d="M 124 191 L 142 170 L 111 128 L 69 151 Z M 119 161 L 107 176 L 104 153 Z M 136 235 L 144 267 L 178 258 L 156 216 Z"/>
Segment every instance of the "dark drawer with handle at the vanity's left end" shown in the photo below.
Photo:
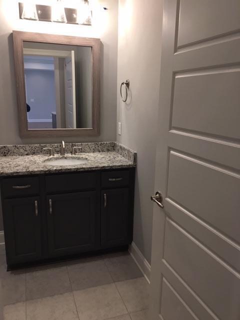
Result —
<path fill-rule="evenodd" d="M 34 177 L 5 178 L 2 180 L 3 197 L 18 197 L 39 193 L 39 179 Z"/>

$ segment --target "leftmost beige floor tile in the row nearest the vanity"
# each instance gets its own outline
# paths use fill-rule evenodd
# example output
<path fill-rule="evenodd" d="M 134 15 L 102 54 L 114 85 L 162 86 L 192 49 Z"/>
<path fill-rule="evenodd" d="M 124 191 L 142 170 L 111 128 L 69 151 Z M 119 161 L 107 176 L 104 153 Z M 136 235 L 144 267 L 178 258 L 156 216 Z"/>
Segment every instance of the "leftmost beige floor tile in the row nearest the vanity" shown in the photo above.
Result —
<path fill-rule="evenodd" d="M 1 278 L 3 305 L 25 301 L 25 272 L 4 271 Z"/>

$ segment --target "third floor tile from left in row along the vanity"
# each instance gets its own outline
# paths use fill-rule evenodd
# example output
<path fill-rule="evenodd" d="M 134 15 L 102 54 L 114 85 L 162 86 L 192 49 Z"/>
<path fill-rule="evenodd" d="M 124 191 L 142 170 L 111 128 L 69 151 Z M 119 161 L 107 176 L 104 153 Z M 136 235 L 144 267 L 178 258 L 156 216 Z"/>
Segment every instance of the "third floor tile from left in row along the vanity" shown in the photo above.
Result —
<path fill-rule="evenodd" d="M 112 282 L 104 260 L 80 262 L 68 265 L 67 269 L 73 291 Z"/>

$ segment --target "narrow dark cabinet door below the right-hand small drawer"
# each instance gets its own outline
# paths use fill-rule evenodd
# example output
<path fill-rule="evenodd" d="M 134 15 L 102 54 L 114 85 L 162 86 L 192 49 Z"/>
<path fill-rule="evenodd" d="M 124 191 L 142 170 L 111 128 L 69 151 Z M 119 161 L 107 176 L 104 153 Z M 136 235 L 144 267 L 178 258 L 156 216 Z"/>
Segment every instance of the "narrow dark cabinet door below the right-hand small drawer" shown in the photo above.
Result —
<path fill-rule="evenodd" d="M 102 245 L 115 246 L 128 243 L 129 189 L 102 191 Z"/>

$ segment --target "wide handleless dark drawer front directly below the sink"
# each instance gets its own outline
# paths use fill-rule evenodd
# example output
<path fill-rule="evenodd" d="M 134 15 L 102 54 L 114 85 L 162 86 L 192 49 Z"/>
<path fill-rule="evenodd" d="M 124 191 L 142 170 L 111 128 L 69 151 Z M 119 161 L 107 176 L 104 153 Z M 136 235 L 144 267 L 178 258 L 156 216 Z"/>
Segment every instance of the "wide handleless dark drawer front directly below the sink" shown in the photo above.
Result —
<path fill-rule="evenodd" d="M 97 186 L 97 172 L 79 172 L 60 175 L 47 175 L 46 192 L 67 192 L 84 189 L 95 189 Z"/>

